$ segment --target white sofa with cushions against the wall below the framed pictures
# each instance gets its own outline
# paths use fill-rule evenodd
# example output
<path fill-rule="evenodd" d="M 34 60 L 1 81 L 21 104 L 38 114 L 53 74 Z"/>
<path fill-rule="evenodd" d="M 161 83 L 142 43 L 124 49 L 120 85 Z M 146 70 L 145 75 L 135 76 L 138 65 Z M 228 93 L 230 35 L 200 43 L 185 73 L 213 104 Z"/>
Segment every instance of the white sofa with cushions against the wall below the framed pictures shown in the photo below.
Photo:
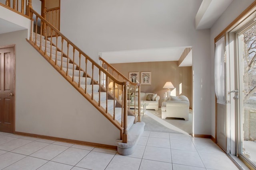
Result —
<path fill-rule="evenodd" d="M 138 92 L 136 92 L 134 99 L 136 104 L 138 104 L 138 95 Z M 140 104 L 148 104 L 146 109 L 154 109 L 157 111 L 159 107 L 159 99 L 160 96 L 157 94 L 140 92 Z M 130 106 L 130 108 L 134 108 L 134 106 Z"/>

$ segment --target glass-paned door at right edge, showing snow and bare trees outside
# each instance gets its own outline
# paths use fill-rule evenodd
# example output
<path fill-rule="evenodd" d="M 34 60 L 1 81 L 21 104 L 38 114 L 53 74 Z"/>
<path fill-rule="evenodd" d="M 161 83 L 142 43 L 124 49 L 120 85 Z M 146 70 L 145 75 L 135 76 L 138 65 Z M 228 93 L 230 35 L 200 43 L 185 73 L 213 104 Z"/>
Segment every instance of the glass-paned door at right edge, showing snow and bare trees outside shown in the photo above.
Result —
<path fill-rule="evenodd" d="M 238 154 L 256 165 L 256 25 L 238 33 L 237 42 Z"/>

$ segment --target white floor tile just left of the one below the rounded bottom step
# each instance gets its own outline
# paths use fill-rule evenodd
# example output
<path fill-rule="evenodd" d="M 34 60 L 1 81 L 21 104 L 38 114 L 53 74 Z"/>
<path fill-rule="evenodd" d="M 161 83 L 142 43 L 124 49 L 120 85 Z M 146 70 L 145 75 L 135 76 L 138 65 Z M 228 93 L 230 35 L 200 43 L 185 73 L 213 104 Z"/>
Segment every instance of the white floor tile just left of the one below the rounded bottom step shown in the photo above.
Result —
<path fill-rule="evenodd" d="M 114 154 L 91 151 L 76 166 L 92 170 L 104 170 Z"/>

